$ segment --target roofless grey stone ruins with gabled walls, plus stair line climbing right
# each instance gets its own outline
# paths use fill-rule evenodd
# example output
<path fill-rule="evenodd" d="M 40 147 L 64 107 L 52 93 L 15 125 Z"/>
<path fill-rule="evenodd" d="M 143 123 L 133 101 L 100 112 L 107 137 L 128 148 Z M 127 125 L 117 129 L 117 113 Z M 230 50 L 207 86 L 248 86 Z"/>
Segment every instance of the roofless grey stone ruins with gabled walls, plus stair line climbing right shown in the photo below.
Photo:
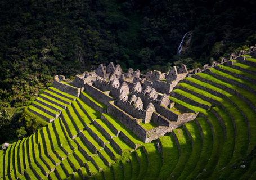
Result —
<path fill-rule="evenodd" d="M 231 63 L 232 59 L 245 60 L 242 55 L 255 57 L 256 46 L 249 51 L 240 51 L 239 55 L 232 54 L 230 60 L 221 59 L 213 61 L 212 65 L 204 65 L 202 68 L 187 70 L 186 65 L 173 66 L 168 73 L 160 71 L 148 71 L 146 75 L 140 70 L 129 68 L 125 73 L 120 65 L 110 62 L 104 66 L 100 64 L 95 71 L 84 72 L 76 75 L 71 84 L 62 84 L 64 76 L 55 76 L 54 86 L 62 91 L 79 97 L 80 92 L 86 91 L 98 101 L 106 105 L 101 113 L 109 113 L 138 136 L 143 142 L 151 142 L 171 132 L 186 122 L 194 120 L 197 113 L 192 112 L 181 105 L 176 109 L 169 95 L 179 81 L 192 74 L 200 73 L 211 67 L 223 63 Z M 150 123 L 153 128 L 147 129 L 145 124 Z"/>

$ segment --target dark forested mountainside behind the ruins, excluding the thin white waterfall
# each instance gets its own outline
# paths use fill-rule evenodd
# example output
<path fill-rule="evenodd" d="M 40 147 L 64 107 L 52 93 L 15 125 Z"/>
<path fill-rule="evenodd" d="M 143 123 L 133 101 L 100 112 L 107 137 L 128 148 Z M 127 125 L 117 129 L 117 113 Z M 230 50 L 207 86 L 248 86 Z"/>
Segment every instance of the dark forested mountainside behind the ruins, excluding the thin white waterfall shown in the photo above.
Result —
<path fill-rule="evenodd" d="M 124 71 L 166 72 L 229 57 L 256 44 L 255 7 L 249 0 L 2 0 L 0 143 L 46 125 L 26 106 L 53 75 L 73 78 L 110 61 Z"/>

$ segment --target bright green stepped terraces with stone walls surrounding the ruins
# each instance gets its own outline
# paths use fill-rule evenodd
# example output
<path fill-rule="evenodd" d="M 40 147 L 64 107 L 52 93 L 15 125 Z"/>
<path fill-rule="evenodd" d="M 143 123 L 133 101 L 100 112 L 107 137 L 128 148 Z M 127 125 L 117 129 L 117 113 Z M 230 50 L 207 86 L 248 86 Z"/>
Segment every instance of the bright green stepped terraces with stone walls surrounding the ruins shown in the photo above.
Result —
<path fill-rule="evenodd" d="M 169 99 L 199 116 L 151 143 L 100 97 L 48 88 L 28 110 L 51 123 L 0 151 L 1 177 L 255 179 L 256 59 L 232 57 L 178 83 Z"/>

